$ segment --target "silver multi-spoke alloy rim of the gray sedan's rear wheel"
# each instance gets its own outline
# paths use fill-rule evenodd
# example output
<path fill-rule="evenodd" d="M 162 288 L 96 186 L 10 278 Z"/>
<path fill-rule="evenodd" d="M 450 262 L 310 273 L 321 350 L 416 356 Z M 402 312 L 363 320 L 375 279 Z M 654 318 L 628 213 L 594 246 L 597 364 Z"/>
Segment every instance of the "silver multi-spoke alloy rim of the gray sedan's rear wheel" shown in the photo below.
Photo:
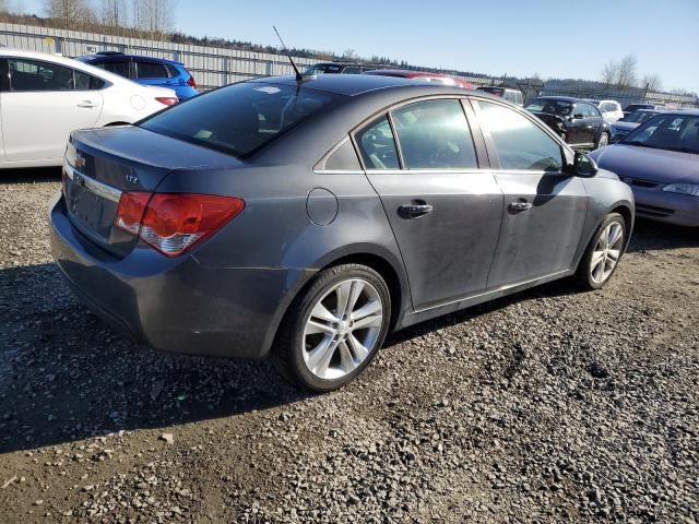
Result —
<path fill-rule="evenodd" d="M 304 362 L 324 380 L 355 369 L 375 349 L 383 325 L 377 289 L 360 278 L 335 284 L 313 306 L 304 327 Z"/>

